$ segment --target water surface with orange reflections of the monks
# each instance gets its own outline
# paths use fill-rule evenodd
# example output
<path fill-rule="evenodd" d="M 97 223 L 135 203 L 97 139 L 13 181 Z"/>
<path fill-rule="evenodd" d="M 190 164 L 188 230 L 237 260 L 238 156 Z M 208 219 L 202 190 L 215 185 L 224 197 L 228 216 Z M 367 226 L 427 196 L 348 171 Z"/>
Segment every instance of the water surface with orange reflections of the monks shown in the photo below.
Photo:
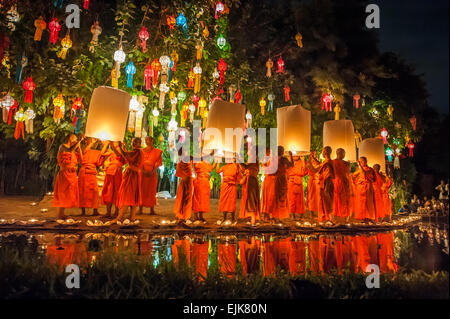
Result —
<path fill-rule="evenodd" d="M 379 265 L 382 273 L 410 267 L 425 271 L 448 271 L 448 227 L 421 224 L 412 231 L 357 235 L 213 236 L 213 235 L 119 235 L 54 233 L 0 234 L 0 244 L 23 236 L 38 243 L 51 263 L 95 262 L 102 252 L 127 252 L 138 258 L 151 257 L 157 267 L 162 260 L 194 266 L 203 277 L 218 269 L 232 277 L 277 271 L 293 275 L 320 275 L 333 271 L 364 272 L 367 265 Z"/>

